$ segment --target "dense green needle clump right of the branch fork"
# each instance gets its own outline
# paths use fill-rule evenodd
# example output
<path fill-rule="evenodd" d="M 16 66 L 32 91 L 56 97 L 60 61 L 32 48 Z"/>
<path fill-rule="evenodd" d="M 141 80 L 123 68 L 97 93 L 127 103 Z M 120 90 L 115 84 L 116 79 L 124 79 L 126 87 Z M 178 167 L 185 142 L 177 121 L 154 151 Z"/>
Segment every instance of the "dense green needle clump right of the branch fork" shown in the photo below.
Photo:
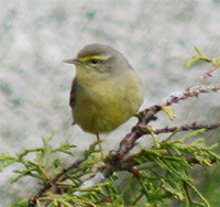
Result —
<path fill-rule="evenodd" d="M 164 206 L 167 198 L 178 199 L 186 206 L 209 206 L 193 185 L 188 172 L 195 164 L 207 167 L 213 162 L 219 162 L 220 157 L 212 152 L 217 144 L 205 146 L 204 139 L 198 139 L 190 144 L 185 143 L 186 139 L 191 139 L 201 131 L 204 130 L 195 130 L 178 140 L 167 139 L 157 142 L 156 148 L 144 149 L 136 154 L 142 193 L 153 206 Z M 191 190 L 196 193 L 200 204 L 193 200 Z"/>

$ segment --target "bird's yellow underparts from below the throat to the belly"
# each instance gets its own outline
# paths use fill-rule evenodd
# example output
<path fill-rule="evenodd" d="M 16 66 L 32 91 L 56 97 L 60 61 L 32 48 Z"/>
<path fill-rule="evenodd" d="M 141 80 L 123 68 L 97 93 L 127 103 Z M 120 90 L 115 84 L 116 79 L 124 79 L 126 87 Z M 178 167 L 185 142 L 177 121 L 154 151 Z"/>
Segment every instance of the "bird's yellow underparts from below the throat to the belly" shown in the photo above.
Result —
<path fill-rule="evenodd" d="M 106 79 L 78 79 L 74 121 L 90 133 L 109 132 L 132 117 L 142 102 L 140 80 L 133 70 Z M 78 78 L 78 76 L 77 76 Z M 85 80 L 85 81 L 84 81 Z"/>

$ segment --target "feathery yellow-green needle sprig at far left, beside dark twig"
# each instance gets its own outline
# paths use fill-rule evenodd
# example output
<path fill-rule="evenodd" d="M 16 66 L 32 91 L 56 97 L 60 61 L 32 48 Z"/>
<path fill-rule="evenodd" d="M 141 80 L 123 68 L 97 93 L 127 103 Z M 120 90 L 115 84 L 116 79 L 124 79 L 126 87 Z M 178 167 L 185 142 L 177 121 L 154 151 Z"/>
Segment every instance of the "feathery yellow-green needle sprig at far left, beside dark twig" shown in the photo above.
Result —
<path fill-rule="evenodd" d="M 42 138 L 42 148 L 24 150 L 15 156 L 11 156 L 8 153 L 0 154 L 0 171 L 10 164 L 20 163 L 23 165 L 20 168 L 23 170 L 14 171 L 18 175 L 12 179 L 12 183 L 26 175 L 41 181 L 41 183 L 47 182 L 61 171 L 59 154 L 65 153 L 73 156 L 72 149 L 75 148 L 67 142 L 62 142 L 58 148 L 52 148 L 48 144 L 52 138 L 53 134 L 48 138 Z"/>

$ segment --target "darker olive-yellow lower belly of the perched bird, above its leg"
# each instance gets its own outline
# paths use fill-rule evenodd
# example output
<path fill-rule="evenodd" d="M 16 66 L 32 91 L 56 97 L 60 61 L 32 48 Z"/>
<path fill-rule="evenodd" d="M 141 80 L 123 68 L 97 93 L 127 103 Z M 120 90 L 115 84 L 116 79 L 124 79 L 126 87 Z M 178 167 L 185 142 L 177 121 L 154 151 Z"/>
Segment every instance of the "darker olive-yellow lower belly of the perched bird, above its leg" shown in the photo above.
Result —
<path fill-rule="evenodd" d="M 74 121 L 90 133 L 110 132 L 132 117 L 139 106 L 127 105 L 123 99 L 94 101 L 79 100 L 73 110 Z"/>

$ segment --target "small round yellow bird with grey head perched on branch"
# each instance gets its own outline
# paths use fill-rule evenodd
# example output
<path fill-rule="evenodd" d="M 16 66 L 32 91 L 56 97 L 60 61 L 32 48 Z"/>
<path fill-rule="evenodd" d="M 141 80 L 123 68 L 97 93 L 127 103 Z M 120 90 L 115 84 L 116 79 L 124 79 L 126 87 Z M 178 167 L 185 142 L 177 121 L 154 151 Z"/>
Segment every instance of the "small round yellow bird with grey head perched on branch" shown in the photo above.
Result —
<path fill-rule="evenodd" d="M 69 100 L 74 123 L 96 134 L 100 144 L 100 133 L 114 130 L 139 110 L 141 81 L 124 56 L 107 45 L 86 45 L 76 58 L 63 62 L 76 66 Z"/>

